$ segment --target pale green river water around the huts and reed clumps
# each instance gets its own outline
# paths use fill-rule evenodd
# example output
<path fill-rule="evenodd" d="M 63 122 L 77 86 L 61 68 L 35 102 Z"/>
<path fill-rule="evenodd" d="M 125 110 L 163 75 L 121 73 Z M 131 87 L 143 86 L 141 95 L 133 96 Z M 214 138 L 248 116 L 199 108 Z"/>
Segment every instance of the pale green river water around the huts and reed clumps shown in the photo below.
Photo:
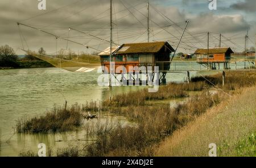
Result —
<path fill-rule="evenodd" d="M 109 87 L 100 87 L 97 84 L 99 75 L 97 71 L 77 73 L 59 68 L 0 70 L 0 156 L 18 156 L 20 151 L 28 149 L 36 153 L 39 143 L 57 149 L 72 143 L 81 143 L 77 139 L 92 138 L 87 137 L 83 129 L 49 135 L 28 135 L 14 133 L 14 126 L 16 120 L 24 115 L 28 118 L 42 115 L 54 105 L 64 105 L 65 100 L 68 101 L 68 105 L 72 105 L 76 102 L 85 104 L 86 101 L 108 98 Z M 192 72 L 192 76 L 196 75 L 199 74 Z M 186 77 L 187 74 L 168 74 L 167 81 L 183 82 Z M 112 94 L 137 91 L 142 88 L 114 87 Z M 99 120 L 101 124 L 117 122 L 122 125 L 133 124 L 124 116 L 113 114 L 100 114 L 99 119 L 90 120 L 90 123 L 86 124 L 91 124 L 90 127 L 93 127 L 93 124 Z"/>

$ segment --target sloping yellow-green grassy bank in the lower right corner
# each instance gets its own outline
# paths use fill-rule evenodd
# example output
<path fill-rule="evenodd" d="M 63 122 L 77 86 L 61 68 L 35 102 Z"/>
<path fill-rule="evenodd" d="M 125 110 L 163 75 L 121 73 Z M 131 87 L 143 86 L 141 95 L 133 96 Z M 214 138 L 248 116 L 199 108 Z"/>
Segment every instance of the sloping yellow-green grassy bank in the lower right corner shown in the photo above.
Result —
<path fill-rule="evenodd" d="M 217 145 L 217 156 L 256 156 L 256 87 L 223 101 L 195 122 L 167 137 L 156 156 L 208 156 L 208 145 Z"/>

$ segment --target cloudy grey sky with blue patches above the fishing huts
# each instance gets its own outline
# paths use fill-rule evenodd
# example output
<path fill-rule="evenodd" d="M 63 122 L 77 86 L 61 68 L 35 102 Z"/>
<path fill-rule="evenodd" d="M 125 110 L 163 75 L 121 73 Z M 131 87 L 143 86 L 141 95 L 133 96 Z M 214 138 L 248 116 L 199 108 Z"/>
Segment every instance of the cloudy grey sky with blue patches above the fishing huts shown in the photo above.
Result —
<path fill-rule="evenodd" d="M 174 46 L 179 41 L 185 20 L 189 20 L 187 32 L 179 51 L 193 53 L 196 48 L 207 48 L 207 32 L 210 47 L 218 46 L 222 34 L 222 46 L 242 51 L 245 35 L 249 31 L 248 46 L 255 46 L 256 1 L 216 0 L 217 10 L 209 10 L 208 0 L 151 0 L 150 41 L 169 41 Z M 71 49 L 91 53 L 109 46 L 109 0 L 46 0 L 46 10 L 38 9 L 38 0 L 1 0 L 0 45 L 38 50 L 47 54 L 56 50 Z M 147 1 L 113 0 L 113 39 L 115 44 L 147 41 Z M 85 46 L 18 25 L 20 22 L 52 33 Z M 69 27 L 87 33 L 87 35 Z M 88 36 L 93 35 L 98 38 Z"/>

